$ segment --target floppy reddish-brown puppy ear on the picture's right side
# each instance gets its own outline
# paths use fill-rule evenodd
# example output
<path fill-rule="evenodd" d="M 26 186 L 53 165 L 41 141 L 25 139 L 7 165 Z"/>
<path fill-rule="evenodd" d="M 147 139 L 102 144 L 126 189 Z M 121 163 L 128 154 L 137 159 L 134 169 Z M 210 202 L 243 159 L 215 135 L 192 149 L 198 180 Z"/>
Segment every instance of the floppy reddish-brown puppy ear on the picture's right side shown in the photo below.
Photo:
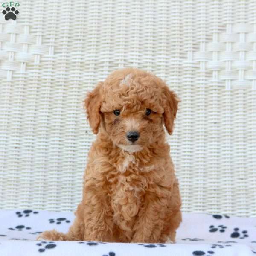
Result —
<path fill-rule="evenodd" d="M 166 130 L 171 135 L 174 128 L 174 119 L 176 117 L 176 113 L 178 110 L 178 103 L 180 100 L 177 95 L 169 90 L 169 88 L 165 85 L 163 87 L 163 100 L 164 100 L 164 112 L 163 112 L 163 120 Z"/>

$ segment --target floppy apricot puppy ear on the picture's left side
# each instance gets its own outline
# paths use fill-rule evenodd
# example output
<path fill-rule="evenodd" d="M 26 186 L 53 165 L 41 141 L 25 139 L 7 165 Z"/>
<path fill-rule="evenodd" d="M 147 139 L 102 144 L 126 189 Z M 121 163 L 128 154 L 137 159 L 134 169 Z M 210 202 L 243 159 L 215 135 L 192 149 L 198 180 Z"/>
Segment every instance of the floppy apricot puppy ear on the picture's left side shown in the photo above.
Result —
<path fill-rule="evenodd" d="M 101 121 L 100 107 L 102 104 L 102 84 L 99 82 L 92 92 L 89 92 L 84 100 L 87 119 L 89 119 L 90 127 L 94 134 L 99 131 Z"/>

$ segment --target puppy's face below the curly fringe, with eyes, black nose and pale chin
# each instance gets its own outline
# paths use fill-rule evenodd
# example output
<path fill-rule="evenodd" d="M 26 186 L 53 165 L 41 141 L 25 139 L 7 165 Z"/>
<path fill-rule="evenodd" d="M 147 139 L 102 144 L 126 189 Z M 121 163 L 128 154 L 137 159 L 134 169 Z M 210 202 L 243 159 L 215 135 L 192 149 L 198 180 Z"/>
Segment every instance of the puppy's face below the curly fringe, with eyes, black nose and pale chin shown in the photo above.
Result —
<path fill-rule="evenodd" d="M 152 110 L 152 106 L 139 104 L 137 99 L 136 104 L 137 108 L 113 106 L 111 111 L 103 112 L 102 118 L 113 143 L 129 152 L 140 151 L 163 133 L 162 114 Z"/>

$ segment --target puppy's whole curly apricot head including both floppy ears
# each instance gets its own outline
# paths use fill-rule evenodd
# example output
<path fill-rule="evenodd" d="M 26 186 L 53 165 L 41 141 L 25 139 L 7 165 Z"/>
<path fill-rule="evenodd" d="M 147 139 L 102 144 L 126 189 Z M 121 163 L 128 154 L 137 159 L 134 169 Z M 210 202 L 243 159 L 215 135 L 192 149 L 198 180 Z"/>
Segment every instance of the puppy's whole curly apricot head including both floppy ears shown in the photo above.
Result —
<path fill-rule="evenodd" d="M 111 73 L 88 93 L 85 107 L 95 134 L 99 127 L 113 143 L 129 152 L 140 151 L 174 128 L 179 100 L 157 76 L 125 68 Z"/>

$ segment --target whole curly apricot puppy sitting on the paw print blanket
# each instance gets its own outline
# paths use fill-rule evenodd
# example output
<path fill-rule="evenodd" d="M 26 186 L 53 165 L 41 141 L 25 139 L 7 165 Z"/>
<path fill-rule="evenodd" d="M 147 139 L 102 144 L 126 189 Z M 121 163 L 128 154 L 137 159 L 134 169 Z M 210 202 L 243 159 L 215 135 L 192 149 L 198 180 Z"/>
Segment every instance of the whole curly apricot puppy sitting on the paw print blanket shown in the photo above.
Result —
<path fill-rule="evenodd" d="M 174 242 L 181 200 L 164 126 L 172 134 L 178 102 L 143 70 L 116 70 L 99 82 L 84 101 L 97 137 L 75 221 L 66 234 L 45 231 L 38 239 Z"/>

